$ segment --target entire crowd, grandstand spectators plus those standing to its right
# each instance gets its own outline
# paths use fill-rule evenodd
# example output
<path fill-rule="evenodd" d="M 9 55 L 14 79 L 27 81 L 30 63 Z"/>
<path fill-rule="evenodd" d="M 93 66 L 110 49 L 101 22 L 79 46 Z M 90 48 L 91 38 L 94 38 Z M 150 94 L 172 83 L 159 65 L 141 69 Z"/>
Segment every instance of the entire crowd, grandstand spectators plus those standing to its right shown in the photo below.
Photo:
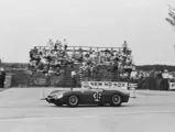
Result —
<path fill-rule="evenodd" d="M 120 79 L 128 78 L 132 82 L 138 82 L 143 89 L 167 90 L 168 81 L 174 81 L 175 74 L 162 72 L 142 72 L 134 68 L 132 51 L 128 47 L 127 41 L 120 48 L 100 48 L 100 47 L 78 47 L 68 46 L 68 42 L 55 43 L 50 40 L 46 46 L 34 47 L 30 51 L 29 68 L 33 72 L 43 74 L 61 74 L 62 67 L 72 67 L 75 72 L 75 64 L 79 64 L 85 77 L 96 77 L 98 66 L 108 67 L 107 74 L 120 73 Z M 102 77 L 102 73 L 99 74 Z M 88 79 L 89 80 L 89 79 Z"/>

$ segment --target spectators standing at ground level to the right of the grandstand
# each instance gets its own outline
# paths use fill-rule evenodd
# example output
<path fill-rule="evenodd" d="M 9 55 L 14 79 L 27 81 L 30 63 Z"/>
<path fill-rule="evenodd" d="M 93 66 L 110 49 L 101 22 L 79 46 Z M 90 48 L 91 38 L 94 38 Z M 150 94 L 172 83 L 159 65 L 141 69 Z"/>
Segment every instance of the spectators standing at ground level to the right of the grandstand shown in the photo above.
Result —
<path fill-rule="evenodd" d="M 141 89 L 153 90 L 168 90 L 169 82 L 175 81 L 175 73 L 164 70 L 150 70 L 150 72 L 136 72 L 131 73 L 131 80 L 139 84 Z"/>

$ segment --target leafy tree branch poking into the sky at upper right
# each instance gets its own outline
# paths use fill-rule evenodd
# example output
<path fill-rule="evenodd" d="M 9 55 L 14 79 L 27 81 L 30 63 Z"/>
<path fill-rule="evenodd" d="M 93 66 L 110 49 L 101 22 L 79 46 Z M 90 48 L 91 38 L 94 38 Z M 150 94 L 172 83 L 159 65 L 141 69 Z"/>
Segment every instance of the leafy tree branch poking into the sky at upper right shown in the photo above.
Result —
<path fill-rule="evenodd" d="M 169 18 L 165 18 L 165 20 L 172 25 L 175 26 L 175 9 L 173 9 L 171 6 L 168 6 L 168 15 Z"/>

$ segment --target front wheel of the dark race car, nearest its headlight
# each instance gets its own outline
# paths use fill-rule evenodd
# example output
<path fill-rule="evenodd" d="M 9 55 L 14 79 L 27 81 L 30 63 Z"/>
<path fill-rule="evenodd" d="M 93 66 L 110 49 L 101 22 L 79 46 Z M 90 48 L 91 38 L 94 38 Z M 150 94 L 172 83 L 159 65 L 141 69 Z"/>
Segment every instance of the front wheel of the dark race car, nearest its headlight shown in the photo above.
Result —
<path fill-rule="evenodd" d="M 79 102 L 79 99 L 75 95 L 69 96 L 68 99 L 67 99 L 67 106 L 68 107 L 77 107 L 78 102 Z"/>

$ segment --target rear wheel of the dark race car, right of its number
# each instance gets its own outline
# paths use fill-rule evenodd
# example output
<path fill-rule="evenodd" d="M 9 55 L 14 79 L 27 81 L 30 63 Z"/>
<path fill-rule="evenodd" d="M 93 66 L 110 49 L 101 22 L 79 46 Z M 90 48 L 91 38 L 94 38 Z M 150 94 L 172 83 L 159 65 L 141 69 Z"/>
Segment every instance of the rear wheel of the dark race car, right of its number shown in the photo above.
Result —
<path fill-rule="evenodd" d="M 118 94 L 114 94 L 112 97 L 111 97 L 111 102 L 110 102 L 110 106 L 112 107 L 120 107 L 122 103 L 122 97 Z"/>

